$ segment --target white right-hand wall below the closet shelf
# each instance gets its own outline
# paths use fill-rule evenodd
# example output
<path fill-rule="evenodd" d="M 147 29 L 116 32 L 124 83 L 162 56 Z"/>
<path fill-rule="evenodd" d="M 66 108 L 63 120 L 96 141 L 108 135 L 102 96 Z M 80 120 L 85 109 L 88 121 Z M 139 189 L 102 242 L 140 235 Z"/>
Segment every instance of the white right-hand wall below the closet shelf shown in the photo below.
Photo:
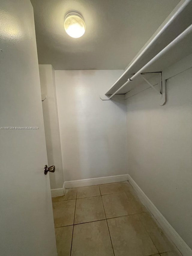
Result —
<path fill-rule="evenodd" d="M 164 74 L 164 72 L 163 72 Z M 192 248 L 192 69 L 128 98 L 129 174 Z"/>

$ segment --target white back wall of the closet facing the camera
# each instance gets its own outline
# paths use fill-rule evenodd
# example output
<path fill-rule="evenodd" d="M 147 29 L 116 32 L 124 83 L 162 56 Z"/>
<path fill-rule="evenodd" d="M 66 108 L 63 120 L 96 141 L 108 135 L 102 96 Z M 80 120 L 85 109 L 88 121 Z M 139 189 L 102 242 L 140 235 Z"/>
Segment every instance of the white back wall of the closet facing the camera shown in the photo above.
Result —
<path fill-rule="evenodd" d="M 127 173 L 125 101 L 102 101 L 123 70 L 55 71 L 64 179 Z"/>

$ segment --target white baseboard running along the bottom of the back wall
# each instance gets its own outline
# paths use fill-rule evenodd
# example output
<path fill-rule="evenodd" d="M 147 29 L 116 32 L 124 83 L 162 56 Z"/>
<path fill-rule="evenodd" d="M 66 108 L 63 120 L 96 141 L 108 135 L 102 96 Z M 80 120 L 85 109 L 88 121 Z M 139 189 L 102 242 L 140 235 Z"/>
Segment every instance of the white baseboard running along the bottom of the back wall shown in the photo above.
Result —
<path fill-rule="evenodd" d="M 113 183 L 113 182 L 122 182 L 127 180 L 128 180 L 128 174 L 123 174 L 123 175 L 99 177 L 99 178 L 92 178 L 92 179 L 79 179 L 79 180 L 65 181 L 64 187 L 77 188 L 77 187 L 100 185 L 100 184 Z"/>

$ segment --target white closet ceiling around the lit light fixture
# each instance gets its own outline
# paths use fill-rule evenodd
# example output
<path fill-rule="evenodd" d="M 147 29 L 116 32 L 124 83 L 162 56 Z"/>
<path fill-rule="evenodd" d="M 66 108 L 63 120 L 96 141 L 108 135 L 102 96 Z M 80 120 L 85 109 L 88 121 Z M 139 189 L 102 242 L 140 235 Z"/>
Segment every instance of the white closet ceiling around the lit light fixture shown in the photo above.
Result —
<path fill-rule="evenodd" d="M 179 0 L 31 0 L 39 64 L 55 70 L 124 69 Z M 86 31 L 71 38 L 64 14 L 80 11 Z"/>

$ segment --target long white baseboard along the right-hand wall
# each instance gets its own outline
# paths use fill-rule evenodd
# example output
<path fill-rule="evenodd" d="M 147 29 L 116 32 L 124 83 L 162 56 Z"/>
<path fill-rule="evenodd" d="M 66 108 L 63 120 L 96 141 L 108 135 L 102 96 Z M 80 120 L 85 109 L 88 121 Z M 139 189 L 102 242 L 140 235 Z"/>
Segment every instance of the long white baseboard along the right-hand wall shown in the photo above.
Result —
<path fill-rule="evenodd" d="M 169 224 L 166 218 L 161 214 L 161 212 L 155 207 L 152 201 L 146 196 L 146 194 L 141 190 L 141 188 L 137 185 L 137 183 L 128 175 L 128 181 L 135 189 L 138 197 L 142 201 L 142 203 L 149 209 L 152 215 L 155 217 L 158 224 L 164 230 L 168 238 L 173 241 L 179 251 L 183 254 L 183 256 L 192 256 L 192 250 L 189 246 L 184 242 L 184 240 L 179 236 L 176 230 Z"/>

